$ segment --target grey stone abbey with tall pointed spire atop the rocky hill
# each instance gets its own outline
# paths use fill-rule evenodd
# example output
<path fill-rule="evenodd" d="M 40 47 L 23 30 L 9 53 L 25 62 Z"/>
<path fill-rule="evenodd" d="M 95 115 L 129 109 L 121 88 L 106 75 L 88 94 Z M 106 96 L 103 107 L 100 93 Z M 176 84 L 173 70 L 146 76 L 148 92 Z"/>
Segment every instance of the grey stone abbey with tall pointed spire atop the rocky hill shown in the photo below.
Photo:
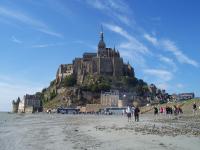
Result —
<path fill-rule="evenodd" d="M 106 47 L 101 32 L 97 53 L 84 53 L 82 58 L 75 58 L 73 64 L 61 64 L 57 71 L 56 82 L 60 83 L 68 75 L 74 75 L 77 83 L 81 84 L 86 75 L 134 76 L 134 69 L 129 63 L 123 62 L 115 47 L 113 49 Z"/>

